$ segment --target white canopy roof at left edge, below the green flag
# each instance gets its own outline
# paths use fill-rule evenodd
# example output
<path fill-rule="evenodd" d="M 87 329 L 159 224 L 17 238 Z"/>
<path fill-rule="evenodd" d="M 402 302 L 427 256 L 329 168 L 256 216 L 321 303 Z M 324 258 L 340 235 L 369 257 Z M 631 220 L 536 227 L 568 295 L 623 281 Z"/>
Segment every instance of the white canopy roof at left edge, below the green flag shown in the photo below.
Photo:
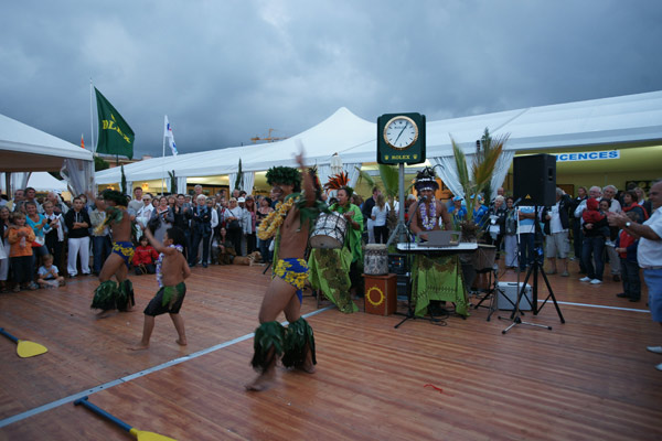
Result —
<path fill-rule="evenodd" d="M 92 161 L 92 152 L 0 115 L 0 172 L 60 171 L 65 159 Z"/>

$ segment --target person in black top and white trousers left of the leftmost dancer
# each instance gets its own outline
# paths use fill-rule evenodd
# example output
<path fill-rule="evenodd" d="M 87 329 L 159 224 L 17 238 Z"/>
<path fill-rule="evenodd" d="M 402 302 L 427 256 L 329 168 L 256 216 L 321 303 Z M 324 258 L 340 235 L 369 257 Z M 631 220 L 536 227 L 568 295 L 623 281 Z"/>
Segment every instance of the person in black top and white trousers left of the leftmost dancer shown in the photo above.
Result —
<path fill-rule="evenodd" d="M 66 271 L 70 277 L 78 273 L 76 260 L 81 256 L 81 270 L 83 275 L 89 275 L 89 215 L 83 209 L 83 200 L 74 197 L 73 209 L 64 216 L 64 224 L 68 230 L 68 257 Z"/>

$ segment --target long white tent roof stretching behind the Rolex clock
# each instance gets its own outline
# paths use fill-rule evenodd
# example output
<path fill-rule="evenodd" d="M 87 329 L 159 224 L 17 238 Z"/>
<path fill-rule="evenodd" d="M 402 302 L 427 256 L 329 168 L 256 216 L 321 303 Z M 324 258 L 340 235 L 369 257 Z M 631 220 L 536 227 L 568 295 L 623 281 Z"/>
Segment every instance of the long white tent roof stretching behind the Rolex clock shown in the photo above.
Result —
<path fill-rule="evenodd" d="M 506 144 L 510 153 L 503 155 L 500 168 L 503 180 L 515 151 L 662 142 L 662 92 L 429 121 L 426 155 L 433 163 L 448 165 L 452 157 L 450 136 L 466 153 L 471 153 L 485 128 L 494 136 L 510 133 Z M 293 154 L 300 140 L 307 160 L 318 164 L 323 180 L 337 152 L 350 174 L 354 165 L 374 163 L 376 136 L 375 122 L 359 118 L 343 107 L 319 125 L 284 141 L 156 158 L 125 166 L 125 174 L 127 181 L 132 182 L 161 179 L 164 171 L 174 170 L 178 179 L 228 174 L 233 182 L 241 158 L 245 181 L 253 182 L 250 176 L 256 171 L 273 165 L 295 165 Z M 444 179 L 444 173 L 440 174 Z M 120 181 L 118 169 L 102 171 L 96 176 L 100 184 Z"/>

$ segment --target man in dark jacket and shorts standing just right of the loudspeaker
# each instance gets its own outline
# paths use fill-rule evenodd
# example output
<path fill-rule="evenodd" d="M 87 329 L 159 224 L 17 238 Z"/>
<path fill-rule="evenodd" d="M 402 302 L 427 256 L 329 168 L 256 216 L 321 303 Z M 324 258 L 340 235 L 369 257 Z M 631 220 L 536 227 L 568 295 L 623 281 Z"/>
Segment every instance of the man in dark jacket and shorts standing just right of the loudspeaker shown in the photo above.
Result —
<path fill-rule="evenodd" d="M 543 209 L 544 232 L 547 237 L 545 254 L 549 260 L 548 275 L 556 273 L 556 259 L 560 276 L 568 277 L 568 252 L 570 250 L 569 228 L 573 200 L 560 189 L 556 189 L 556 204 Z"/>

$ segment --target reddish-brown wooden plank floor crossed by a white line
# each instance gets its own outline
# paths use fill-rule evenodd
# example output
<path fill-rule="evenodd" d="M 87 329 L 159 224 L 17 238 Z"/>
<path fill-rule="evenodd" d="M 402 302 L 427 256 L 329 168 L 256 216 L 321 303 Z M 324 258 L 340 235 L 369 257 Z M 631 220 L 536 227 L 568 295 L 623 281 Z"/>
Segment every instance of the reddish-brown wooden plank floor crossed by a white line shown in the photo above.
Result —
<path fill-rule="evenodd" d="M 503 335 L 509 322 L 487 322 L 483 309 L 445 326 L 410 320 L 397 330 L 398 315 L 323 310 L 308 319 L 317 373 L 279 368 L 275 386 L 259 394 L 243 385 L 255 375 L 250 333 L 268 283 L 261 267 L 193 270 L 183 348 L 159 316 L 149 351 L 126 349 L 140 338 L 152 276 L 132 277 L 136 312 L 105 320 L 88 308 L 97 284 L 89 277 L 0 294 L 0 327 L 49 348 L 19 358 L 0 337 L 0 440 L 129 439 L 73 406 L 87 389 L 92 402 L 129 424 L 179 440 L 662 439 L 662 373 L 653 368 L 662 356 L 645 351 L 662 343 L 662 330 L 645 311 L 645 290 L 630 303 L 615 297 L 620 283 L 580 283 L 572 269 L 572 278 L 549 277 L 566 323 L 552 304 L 524 316 L 552 331 L 519 325 Z M 303 313 L 316 310 L 305 297 Z"/>

